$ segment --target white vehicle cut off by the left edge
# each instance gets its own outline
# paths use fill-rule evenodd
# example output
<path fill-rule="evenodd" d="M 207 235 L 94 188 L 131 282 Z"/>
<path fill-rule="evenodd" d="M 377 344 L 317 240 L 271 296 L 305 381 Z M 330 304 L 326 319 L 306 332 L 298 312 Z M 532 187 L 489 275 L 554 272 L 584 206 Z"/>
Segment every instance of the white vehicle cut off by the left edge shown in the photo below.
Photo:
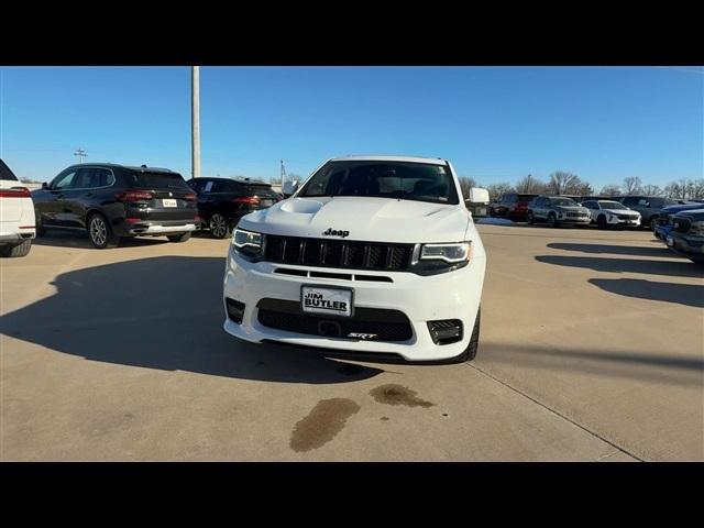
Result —
<path fill-rule="evenodd" d="M 24 256 L 36 237 L 30 189 L 0 160 L 0 256 Z"/>

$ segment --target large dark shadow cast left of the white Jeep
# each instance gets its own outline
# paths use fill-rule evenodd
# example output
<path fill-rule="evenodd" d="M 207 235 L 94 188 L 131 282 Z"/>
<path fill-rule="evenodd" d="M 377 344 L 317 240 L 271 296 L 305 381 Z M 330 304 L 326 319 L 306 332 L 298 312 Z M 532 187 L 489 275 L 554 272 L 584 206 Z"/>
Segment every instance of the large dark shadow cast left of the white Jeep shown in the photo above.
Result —
<path fill-rule="evenodd" d="M 222 329 L 224 258 L 158 256 L 64 273 L 57 293 L 7 314 L 0 331 L 91 361 L 243 380 L 333 384 L 384 371 Z"/>

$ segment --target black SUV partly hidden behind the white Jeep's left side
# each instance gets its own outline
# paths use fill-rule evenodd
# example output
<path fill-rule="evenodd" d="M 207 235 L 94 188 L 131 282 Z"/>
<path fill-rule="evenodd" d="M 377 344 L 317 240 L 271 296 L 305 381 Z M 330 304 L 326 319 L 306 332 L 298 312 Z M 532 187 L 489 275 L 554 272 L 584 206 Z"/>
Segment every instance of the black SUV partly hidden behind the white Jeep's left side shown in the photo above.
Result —
<path fill-rule="evenodd" d="M 198 194 L 202 228 L 216 239 L 229 237 L 240 218 L 280 200 L 270 184 L 232 178 L 193 178 L 188 185 Z"/>

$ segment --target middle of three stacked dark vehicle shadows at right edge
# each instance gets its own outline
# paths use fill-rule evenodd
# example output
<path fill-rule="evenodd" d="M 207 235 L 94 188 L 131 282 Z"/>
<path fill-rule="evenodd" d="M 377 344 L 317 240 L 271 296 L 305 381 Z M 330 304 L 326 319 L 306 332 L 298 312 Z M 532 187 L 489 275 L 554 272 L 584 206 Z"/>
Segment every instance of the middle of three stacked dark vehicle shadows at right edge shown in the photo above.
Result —
<path fill-rule="evenodd" d="M 556 266 L 584 267 L 595 272 L 646 273 L 679 277 L 704 277 L 704 268 L 689 261 L 651 261 L 619 257 L 538 255 L 536 261 Z"/>

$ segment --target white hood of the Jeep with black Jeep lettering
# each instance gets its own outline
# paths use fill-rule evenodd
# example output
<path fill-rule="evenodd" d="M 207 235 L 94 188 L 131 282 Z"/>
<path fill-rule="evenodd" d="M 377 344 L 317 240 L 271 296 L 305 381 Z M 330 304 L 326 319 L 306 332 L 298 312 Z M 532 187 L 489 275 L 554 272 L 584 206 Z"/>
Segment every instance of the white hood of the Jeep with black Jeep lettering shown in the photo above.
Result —
<path fill-rule="evenodd" d="M 289 198 L 242 217 L 239 227 L 284 237 L 424 243 L 464 240 L 470 222 L 462 204 L 337 196 Z M 323 235 L 328 230 L 344 237 Z"/>

